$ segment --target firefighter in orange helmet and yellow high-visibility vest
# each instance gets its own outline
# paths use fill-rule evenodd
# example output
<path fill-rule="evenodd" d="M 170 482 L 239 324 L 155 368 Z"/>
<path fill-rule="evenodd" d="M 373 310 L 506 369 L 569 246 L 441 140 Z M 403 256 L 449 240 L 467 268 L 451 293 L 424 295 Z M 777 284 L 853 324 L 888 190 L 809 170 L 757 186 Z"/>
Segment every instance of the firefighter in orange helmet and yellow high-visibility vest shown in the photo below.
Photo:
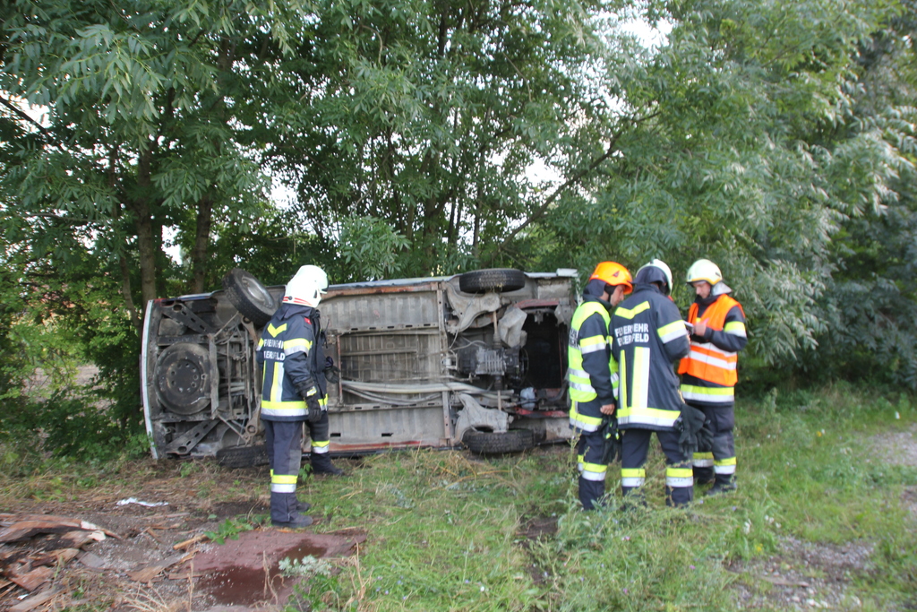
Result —
<path fill-rule="evenodd" d="M 608 324 L 611 310 L 633 289 L 631 274 L 620 263 L 602 261 L 583 289 L 583 301 L 570 322 L 568 376 L 570 427 L 580 433 L 577 443 L 580 502 L 591 510 L 605 495 L 602 462 L 602 417 L 614 413 L 617 365 L 612 359 Z"/>

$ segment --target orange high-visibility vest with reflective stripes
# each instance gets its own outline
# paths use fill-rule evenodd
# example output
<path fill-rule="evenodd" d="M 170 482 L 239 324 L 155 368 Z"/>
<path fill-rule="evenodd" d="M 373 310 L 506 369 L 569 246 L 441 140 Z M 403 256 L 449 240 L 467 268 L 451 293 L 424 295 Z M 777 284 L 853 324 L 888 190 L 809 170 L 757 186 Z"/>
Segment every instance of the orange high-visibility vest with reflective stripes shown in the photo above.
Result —
<path fill-rule="evenodd" d="M 742 310 L 742 316 L 745 316 L 745 310 L 742 309 L 741 304 L 729 295 L 720 295 L 713 304 L 707 306 L 703 313 L 703 320 L 707 327 L 714 331 L 723 331 L 726 314 L 733 306 L 738 306 L 739 310 Z M 699 309 L 697 302 L 691 304 L 691 309 L 688 311 L 690 323 L 698 322 Z M 737 353 L 724 351 L 714 346 L 713 342 L 691 339 L 691 352 L 679 363 L 679 374 L 688 373 L 708 383 L 735 386 L 738 381 L 735 373 L 736 362 L 738 362 Z"/>

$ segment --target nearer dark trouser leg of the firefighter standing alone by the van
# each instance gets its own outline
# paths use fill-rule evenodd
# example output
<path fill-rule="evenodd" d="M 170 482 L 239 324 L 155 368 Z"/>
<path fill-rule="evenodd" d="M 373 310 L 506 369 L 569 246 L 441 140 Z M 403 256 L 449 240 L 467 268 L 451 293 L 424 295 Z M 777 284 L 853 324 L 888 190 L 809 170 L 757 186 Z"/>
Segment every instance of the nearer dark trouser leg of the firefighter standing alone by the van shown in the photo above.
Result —
<path fill-rule="evenodd" d="M 271 520 L 288 523 L 296 516 L 296 481 L 303 458 L 303 421 L 262 421 L 271 466 Z"/>

